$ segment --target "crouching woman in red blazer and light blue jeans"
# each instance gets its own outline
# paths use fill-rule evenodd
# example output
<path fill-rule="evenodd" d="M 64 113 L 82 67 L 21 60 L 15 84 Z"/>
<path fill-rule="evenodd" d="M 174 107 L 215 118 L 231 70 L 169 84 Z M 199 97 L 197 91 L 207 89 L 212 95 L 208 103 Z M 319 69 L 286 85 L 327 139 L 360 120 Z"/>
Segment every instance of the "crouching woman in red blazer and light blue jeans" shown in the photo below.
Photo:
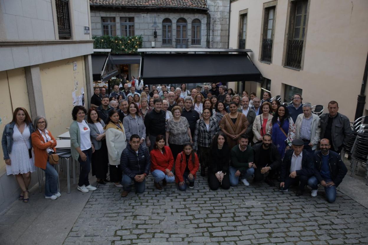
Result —
<path fill-rule="evenodd" d="M 174 183 L 175 177 L 171 169 L 174 165 L 174 157 L 168 146 L 165 146 L 165 140 L 163 135 L 156 137 L 156 143 L 151 151 L 151 173 L 155 177 L 155 187 L 158 190 L 162 190 L 162 185 L 166 183 Z"/>

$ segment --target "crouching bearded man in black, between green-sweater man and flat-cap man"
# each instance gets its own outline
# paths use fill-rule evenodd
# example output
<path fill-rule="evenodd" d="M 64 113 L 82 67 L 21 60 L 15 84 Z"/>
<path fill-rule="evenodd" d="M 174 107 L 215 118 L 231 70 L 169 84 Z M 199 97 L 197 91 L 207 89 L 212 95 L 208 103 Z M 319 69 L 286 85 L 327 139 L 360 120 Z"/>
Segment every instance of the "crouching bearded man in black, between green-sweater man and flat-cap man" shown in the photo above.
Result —
<path fill-rule="evenodd" d="M 265 178 L 265 182 L 269 186 L 275 186 L 275 183 L 271 178 L 277 172 L 277 169 L 281 165 L 281 157 L 277 147 L 272 144 L 272 139 L 270 134 L 265 134 L 263 136 L 263 142 L 255 144 L 254 149 L 254 164 L 256 169 L 254 172 L 254 182 L 262 181 L 264 175 L 269 172 L 268 176 Z"/>

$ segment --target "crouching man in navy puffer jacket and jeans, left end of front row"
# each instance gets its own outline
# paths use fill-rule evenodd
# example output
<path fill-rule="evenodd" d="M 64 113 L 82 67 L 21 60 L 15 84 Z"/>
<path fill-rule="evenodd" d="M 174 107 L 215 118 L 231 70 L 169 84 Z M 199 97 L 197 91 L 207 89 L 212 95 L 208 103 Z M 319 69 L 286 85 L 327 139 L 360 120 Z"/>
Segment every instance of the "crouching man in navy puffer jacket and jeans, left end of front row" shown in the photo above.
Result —
<path fill-rule="evenodd" d="M 121 197 L 128 195 L 132 189 L 132 181 L 137 193 L 143 193 L 146 188 L 146 177 L 151 170 L 151 156 L 147 147 L 141 146 L 140 140 L 139 135 L 133 134 L 127 148 L 121 153 L 120 168 L 123 171 L 124 188 Z"/>

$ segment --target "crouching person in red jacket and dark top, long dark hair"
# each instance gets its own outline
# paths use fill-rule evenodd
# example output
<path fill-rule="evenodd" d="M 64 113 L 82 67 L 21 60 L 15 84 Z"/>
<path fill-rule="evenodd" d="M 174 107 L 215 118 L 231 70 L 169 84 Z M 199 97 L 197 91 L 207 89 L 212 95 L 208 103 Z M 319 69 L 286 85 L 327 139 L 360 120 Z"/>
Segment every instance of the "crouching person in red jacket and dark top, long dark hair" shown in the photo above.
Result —
<path fill-rule="evenodd" d="M 193 160 L 194 159 L 194 160 Z M 186 190 L 189 181 L 189 188 L 194 187 L 195 174 L 199 169 L 197 154 L 193 151 L 193 144 L 184 143 L 184 150 L 178 154 L 175 163 L 175 181 L 179 185 L 179 190 Z"/>

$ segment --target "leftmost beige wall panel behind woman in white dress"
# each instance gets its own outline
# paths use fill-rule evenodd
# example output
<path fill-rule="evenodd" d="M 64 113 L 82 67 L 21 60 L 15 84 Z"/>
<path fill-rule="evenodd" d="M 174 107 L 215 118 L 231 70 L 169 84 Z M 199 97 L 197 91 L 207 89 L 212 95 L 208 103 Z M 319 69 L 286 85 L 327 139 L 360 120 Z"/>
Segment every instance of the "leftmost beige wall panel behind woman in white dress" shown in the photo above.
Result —
<path fill-rule="evenodd" d="M 3 137 L 4 127 L 13 119 L 13 111 L 24 107 L 28 113 L 28 90 L 24 68 L 0 71 L 0 136 Z M 3 151 L 0 152 L 0 176 L 6 172 Z"/>

